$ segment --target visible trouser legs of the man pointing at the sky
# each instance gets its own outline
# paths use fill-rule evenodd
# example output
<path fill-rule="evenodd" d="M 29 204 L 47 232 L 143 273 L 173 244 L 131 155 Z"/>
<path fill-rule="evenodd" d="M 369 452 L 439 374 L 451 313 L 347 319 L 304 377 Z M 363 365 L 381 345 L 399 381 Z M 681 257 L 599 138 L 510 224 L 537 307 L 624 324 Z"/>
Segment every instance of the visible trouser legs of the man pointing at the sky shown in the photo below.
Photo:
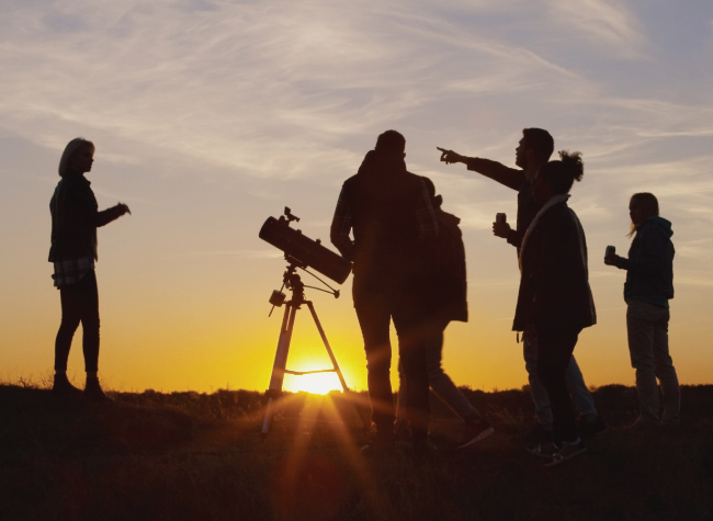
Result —
<path fill-rule="evenodd" d="M 542 426 L 552 427 L 552 407 L 550 406 L 547 390 L 537 377 L 536 339 L 531 339 L 529 336 L 525 336 L 522 341 L 522 348 L 524 366 L 528 371 L 528 380 L 530 381 L 530 393 L 535 405 L 537 421 Z M 579 415 L 588 421 L 596 420 L 597 409 L 595 407 L 595 400 L 587 388 L 587 384 L 585 384 L 585 378 L 574 355 L 569 360 L 569 365 L 567 365 L 565 371 L 565 383 L 567 384 L 569 395 L 575 400 Z"/>

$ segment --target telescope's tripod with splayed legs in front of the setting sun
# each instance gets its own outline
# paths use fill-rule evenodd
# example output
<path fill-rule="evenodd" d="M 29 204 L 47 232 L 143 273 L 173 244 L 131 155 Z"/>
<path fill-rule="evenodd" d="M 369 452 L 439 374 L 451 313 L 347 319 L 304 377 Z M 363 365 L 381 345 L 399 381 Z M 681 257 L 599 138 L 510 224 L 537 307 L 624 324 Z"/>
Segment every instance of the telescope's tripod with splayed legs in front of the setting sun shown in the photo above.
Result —
<path fill-rule="evenodd" d="M 344 381 L 344 376 L 342 375 L 341 370 L 339 369 L 339 364 L 337 363 L 335 353 L 332 352 L 331 347 L 329 346 L 329 341 L 327 340 L 325 330 L 321 328 L 321 324 L 319 322 L 319 318 L 317 317 L 317 312 L 315 312 L 315 306 L 313 305 L 312 301 L 305 299 L 305 285 L 302 282 L 299 275 L 295 273 L 297 268 L 304 269 L 305 267 L 302 265 L 299 261 L 297 261 L 294 258 L 291 258 L 288 256 L 286 256 L 285 258 L 290 262 L 290 265 L 287 267 L 287 271 L 285 271 L 283 276 L 283 287 L 286 286 L 292 292 L 292 299 L 285 303 L 284 302 L 285 295 L 282 292 L 273 292 L 272 297 L 270 298 L 270 303 L 273 306 L 281 307 L 283 304 L 285 304 L 285 313 L 282 318 L 280 339 L 278 340 L 278 352 L 275 353 L 275 361 L 272 366 L 272 376 L 270 377 L 270 388 L 265 392 L 265 398 L 268 398 L 268 405 L 265 407 L 265 416 L 262 422 L 262 433 L 261 433 L 262 440 L 267 438 L 268 432 L 270 430 L 270 423 L 272 422 L 272 406 L 274 400 L 282 395 L 282 384 L 285 374 L 294 374 L 301 376 L 304 374 L 315 374 L 315 373 L 337 373 L 337 376 L 339 377 L 339 382 L 341 383 L 341 387 L 344 394 L 349 392 L 349 387 L 347 387 L 347 382 Z M 333 294 L 335 296 L 339 296 L 339 292 L 333 292 Z M 327 349 L 327 354 L 329 354 L 329 359 L 331 360 L 332 369 L 325 369 L 320 371 L 290 371 L 286 369 L 287 354 L 290 352 L 290 341 L 292 340 L 292 331 L 294 329 L 295 318 L 297 316 L 297 310 L 302 308 L 301 306 L 303 304 L 305 304 L 307 308 L 309 308 L 312 318 L 315 320 L 315 325 L 319 330 L 319 336 L 321 337 L 321 341 L 325 343 L 325 348 Z M 272 314 L 272 312 L 270 313 Z M 359 410 L 356 410 L 356 416 L 361 420 L 362 428 L 365 429 L 364 420 L 359 414 Z"/>

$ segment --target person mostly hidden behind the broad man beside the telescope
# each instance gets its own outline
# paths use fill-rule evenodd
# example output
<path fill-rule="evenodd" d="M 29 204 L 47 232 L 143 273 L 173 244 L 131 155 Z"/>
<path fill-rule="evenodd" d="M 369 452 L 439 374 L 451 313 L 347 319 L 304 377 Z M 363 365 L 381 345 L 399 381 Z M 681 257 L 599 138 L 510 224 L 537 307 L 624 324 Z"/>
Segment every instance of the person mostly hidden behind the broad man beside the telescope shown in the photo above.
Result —
<path fill-rule="evenodd" d="M 465 265 L 465 249 L 462 233 L 459 228 L 461 219 L 441 208 L 443 197 L 435 195 L 433 182 L 423 178 L 431 204 L 439 223 L 439 236 L 435 242 L 437 273 L 434 273 L 433 291 L 429 305 L 428 322 L 433 332 L 432 340 L 426 346 L 426 369 L 428 381 L 433 393 L 455 412 L 464 422 L 463 435 L 459 449 L 465 449 L 493 434 L 494 429 L 482 418 L 480 412 L 471 405 L 468 399 L 457 389 L 453 381 L 441 366 L 443 352 L 443 333 L 451 320 L 467 321 L 467 278 Z M 396 433 L 400 438 L 407 434 L 407 381 L 404 378 L 399 361 L 399 389 L 396 410 Z"/>

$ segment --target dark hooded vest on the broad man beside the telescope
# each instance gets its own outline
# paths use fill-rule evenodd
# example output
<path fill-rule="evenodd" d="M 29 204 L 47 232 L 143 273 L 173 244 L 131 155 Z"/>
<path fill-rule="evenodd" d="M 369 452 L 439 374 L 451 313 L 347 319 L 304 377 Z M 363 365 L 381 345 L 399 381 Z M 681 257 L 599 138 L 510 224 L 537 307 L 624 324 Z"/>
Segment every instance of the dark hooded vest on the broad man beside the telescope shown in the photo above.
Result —
<path fill-rule="evenodd" d="M 354 234 L 354 294 L 419 284 L 429 265 L 416 216 L 420 177 L 406 170 L 400 156 L 371 150 L 341 194 Z"/>

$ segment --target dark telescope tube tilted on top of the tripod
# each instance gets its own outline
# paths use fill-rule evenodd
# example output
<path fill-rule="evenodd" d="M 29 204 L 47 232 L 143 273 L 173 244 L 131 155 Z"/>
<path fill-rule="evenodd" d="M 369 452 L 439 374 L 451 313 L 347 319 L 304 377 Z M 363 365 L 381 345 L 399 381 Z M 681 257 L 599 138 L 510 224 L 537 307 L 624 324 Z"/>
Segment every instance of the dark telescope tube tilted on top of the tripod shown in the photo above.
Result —
<path fill-rule="evenodd" d="M 290 227 L 299 217 L 292 215 L 285 206 L 279 219 L 268 217 L 260 229 L 260 238 L 285 252 L 285 258 L 296 261 L 298 268 L 312 268 L 332 281 L 341 284 L 351 273 L 351 262 L 321 246 L 321 240 L 312 240 L 302 230 Z"/>

